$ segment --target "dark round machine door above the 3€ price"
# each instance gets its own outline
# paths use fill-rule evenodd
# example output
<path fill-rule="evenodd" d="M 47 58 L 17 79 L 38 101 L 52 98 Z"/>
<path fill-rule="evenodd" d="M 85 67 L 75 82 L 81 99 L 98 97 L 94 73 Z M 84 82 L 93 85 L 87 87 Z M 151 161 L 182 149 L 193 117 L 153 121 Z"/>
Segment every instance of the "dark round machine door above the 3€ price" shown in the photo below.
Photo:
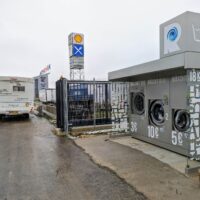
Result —
<path fill-rule="evenodd" d="M 138 92 L 133 95 L 132 98 L 132 108 L 133 112 L 142 115 L 144 113 L 144 94 Z"/>

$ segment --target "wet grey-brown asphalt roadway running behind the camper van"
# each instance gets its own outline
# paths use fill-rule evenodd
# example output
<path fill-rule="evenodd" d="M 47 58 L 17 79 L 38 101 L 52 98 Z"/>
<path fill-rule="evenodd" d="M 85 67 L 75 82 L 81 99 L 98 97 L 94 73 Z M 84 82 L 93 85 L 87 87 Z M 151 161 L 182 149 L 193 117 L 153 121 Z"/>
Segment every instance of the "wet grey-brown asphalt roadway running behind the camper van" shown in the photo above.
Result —
<path fill-rule="evenodd" d="M 0 200 L 143 200 L 44 118 L 0 121 Z"/>

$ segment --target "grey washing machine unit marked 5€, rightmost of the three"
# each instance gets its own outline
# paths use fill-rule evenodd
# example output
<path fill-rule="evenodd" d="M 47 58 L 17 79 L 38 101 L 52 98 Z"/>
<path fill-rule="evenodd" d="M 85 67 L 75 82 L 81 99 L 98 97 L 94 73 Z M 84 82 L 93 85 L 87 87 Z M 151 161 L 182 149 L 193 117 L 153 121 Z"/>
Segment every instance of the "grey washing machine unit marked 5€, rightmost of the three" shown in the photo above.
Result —
<path fill-rule="evenodd" d="M 174 76 L 170 78 L 170 109 L 171 131 L 168 140 L 172 150 L 184 155 L 189 155 L 189 140 L 191 119 L 188 109 L 187 77 Z"/>

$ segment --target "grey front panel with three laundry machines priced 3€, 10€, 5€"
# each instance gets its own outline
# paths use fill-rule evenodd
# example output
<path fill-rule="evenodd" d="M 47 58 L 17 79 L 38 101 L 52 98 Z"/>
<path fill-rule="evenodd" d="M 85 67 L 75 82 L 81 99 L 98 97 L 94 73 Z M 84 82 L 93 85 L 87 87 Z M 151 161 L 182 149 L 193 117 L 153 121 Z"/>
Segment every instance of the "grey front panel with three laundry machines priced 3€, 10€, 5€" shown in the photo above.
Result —
<path fill-rule="evenodd" d="M 151 79 L 130 87 L 130 132 L 134 138 L 188 155 L 191 120 L 186 76 Z"/>

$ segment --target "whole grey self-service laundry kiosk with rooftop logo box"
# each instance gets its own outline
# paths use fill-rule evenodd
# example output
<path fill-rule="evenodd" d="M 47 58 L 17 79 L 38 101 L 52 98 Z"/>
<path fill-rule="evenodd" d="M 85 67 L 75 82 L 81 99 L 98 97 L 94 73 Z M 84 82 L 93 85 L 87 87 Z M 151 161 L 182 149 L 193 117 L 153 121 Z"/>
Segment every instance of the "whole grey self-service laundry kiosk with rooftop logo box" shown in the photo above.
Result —
<path fill-rule="evenodd" d="M 160 25 L 159 60 L 108 76 L 115 130 L 200 159 L 200 14 Z"/>

